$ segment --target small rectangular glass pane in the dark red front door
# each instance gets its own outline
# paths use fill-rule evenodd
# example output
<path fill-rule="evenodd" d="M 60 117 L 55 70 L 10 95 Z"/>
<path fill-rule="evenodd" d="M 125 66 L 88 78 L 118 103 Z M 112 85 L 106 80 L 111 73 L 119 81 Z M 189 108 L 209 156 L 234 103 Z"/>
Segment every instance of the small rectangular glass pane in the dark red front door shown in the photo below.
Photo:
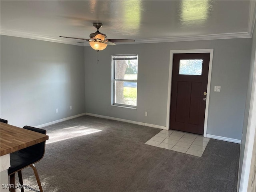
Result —
<path fill-rule="evenodd" d="M 180 60 L 180 75 L 202 75 L 202 59 L 181 59 Z"/>

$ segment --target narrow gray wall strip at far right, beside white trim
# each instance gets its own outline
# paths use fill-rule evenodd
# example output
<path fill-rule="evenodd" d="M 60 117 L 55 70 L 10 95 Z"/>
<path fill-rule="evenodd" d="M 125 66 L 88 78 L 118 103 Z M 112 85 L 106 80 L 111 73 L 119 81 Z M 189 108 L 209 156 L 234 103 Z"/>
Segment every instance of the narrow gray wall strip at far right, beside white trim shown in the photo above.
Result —
<path fill-rule="evenodd" d="M 254 24 L 255 26 L 255 24 Z M 253 81 L 253 72 L 255 66 L 255 51 L 256 51 L 256 32 L 254 28 L 254 32 L 252 34 L 252 48 L 251 48 L 251 57 L 250 57 L 250 70 L 249 70 L 249 80 L 248 80 L 248 87 L 247 87 L 247 95 L 246 95 L 246 105 L 245 105 L 245 112 L 244 112 L 244 124 L 243 124 L 243 136 L 240 145 L 240 161 L 239 161 L 239 173 L 238 173 L 238 187 L 240 185 L 240 179 L 242 174 L 242 165 L 244 161 L 244 150 L 245 150 L 245 142 L 246 142 L 246 134 L 247 134 L 247 126 L 248 126 L 248 118 L 249 118 L 249 109 L 251 101 L 251 94 L 252 94 L 252 81 Z M 255 118 L 255 117 L 254 117 Z"/>

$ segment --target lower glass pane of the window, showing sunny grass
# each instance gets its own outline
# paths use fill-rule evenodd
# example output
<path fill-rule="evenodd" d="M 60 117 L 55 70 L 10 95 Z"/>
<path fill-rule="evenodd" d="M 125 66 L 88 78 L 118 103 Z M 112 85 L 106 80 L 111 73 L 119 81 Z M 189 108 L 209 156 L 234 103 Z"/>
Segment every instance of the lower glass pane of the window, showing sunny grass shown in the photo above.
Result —
<path fill-rule="evenodd" d="M 115 93 L 115 103 L 137 105 L 137 82 L 115 81 Z"/>

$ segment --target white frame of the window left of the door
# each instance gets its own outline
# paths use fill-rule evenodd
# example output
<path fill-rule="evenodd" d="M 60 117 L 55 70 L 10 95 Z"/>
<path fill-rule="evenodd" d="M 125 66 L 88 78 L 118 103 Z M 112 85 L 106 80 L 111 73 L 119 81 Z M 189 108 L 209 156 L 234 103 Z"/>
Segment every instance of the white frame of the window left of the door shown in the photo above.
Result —
<path fill-rule="evenodd" d="M 131 108 L 131 109 L 137 109 L 137 103 L 136 103 L 136 106 L 134 105 L 126 105 L 126 104 L 120 104 L 120 103 L 115 103 L 115 96 L 116 96 L 116 93 L 115 93 L 115 82 L 116 81 L 124 81 L 124 82 L 137 82 L 137 93 L 138 93 L 138 76 L 137 76 L 137 80 L 126 80 L 126 79 L 116 79 L 115 78 L 115 66 L 116 66 L 116 60 L 114 60 L 113 58 L 115 56 L 135 56 L 137 57 L 137 60 L 138 60 L 138 54 L 113 54 L 112 55 L 112 59 L 111 59 L 111 62 L 112 62 L 112 73 L 111 73 L 111 79 L 112 79 L 112 83 L 111 83 L 111 105 L 112 106 L 117 106 L 117 107 L 124 107 L 124 108 Z M 138 72 L 137 72 L 138 73 Z M 137 98 L 138 98 L 138 94 L 137 94 Z"/>

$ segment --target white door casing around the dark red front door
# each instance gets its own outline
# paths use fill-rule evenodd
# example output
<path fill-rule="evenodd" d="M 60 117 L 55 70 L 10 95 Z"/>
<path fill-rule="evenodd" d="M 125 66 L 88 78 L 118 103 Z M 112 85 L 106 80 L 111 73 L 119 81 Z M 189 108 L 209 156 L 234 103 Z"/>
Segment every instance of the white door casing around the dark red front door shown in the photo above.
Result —
<path fill-rule="evenodd" d="M 211 85 L 211 76 L 212 76 L 213 49 L 170 50 L 166 130 L 170 129 L 170 106 L 171 106 L 171 90 L 172 90 L 172 65 L 173 65 L 173 55 L 177 54 L 177 53 L 210 53 L 208 81 L 207 81 L 206 106 L 205 106 L 205 115 L 204 115 L 204 137 L 206 137 L 207 120 L 208 120 L 208 109 L 209 109 L 209 99 L 210 99 L 210 85 Z"/>

